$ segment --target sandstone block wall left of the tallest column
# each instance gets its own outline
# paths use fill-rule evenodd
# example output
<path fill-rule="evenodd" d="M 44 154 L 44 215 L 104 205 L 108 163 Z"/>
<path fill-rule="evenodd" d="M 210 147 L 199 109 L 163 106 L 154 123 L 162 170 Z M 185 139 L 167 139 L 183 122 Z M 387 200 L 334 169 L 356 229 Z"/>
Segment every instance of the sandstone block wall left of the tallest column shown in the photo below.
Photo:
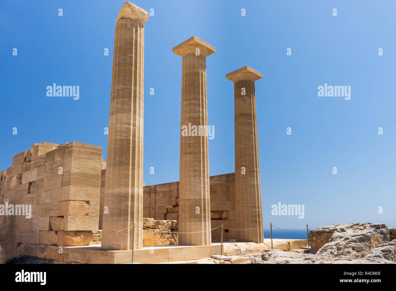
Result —
<path fill-rule="evenodd" d="M 15 155 L 0 172 L 2 251 L 89 244 L 99 223 L 101 154 L 101 146 L 43 142 Z"/>

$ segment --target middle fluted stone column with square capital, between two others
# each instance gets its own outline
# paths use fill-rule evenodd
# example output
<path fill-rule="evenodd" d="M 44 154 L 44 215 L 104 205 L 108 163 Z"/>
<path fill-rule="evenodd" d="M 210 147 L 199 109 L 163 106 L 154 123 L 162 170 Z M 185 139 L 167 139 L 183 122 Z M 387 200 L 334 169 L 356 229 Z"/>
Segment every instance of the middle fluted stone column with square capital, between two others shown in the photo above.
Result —
<path fill-rule="evenodd" d="M 179 232 L 197 232 L 179 234 L 180 245 L 211 244 L 206 57 L 215 51 L 195 36 L 173 48 L 183 63 Z"/>

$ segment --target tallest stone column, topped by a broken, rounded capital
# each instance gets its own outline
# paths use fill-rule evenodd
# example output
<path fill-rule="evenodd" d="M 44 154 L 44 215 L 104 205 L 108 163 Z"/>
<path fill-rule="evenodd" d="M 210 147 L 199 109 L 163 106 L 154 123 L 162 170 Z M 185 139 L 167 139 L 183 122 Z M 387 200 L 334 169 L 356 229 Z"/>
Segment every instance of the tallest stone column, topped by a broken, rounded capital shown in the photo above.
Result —
<path fill-rule="evenodd" d="M 132 249 L 129 226 L 143 223 L 143 56 L 147 19 L 147 11 L 124 2 L 116 21 L 103 203 L 108 207 L 108 214 L 103 212 L 102 228 L 102 249 L 106 250 Z M 135 227 L 134 238 L 135 249 L 141 249 L 142 228 Z"/>

